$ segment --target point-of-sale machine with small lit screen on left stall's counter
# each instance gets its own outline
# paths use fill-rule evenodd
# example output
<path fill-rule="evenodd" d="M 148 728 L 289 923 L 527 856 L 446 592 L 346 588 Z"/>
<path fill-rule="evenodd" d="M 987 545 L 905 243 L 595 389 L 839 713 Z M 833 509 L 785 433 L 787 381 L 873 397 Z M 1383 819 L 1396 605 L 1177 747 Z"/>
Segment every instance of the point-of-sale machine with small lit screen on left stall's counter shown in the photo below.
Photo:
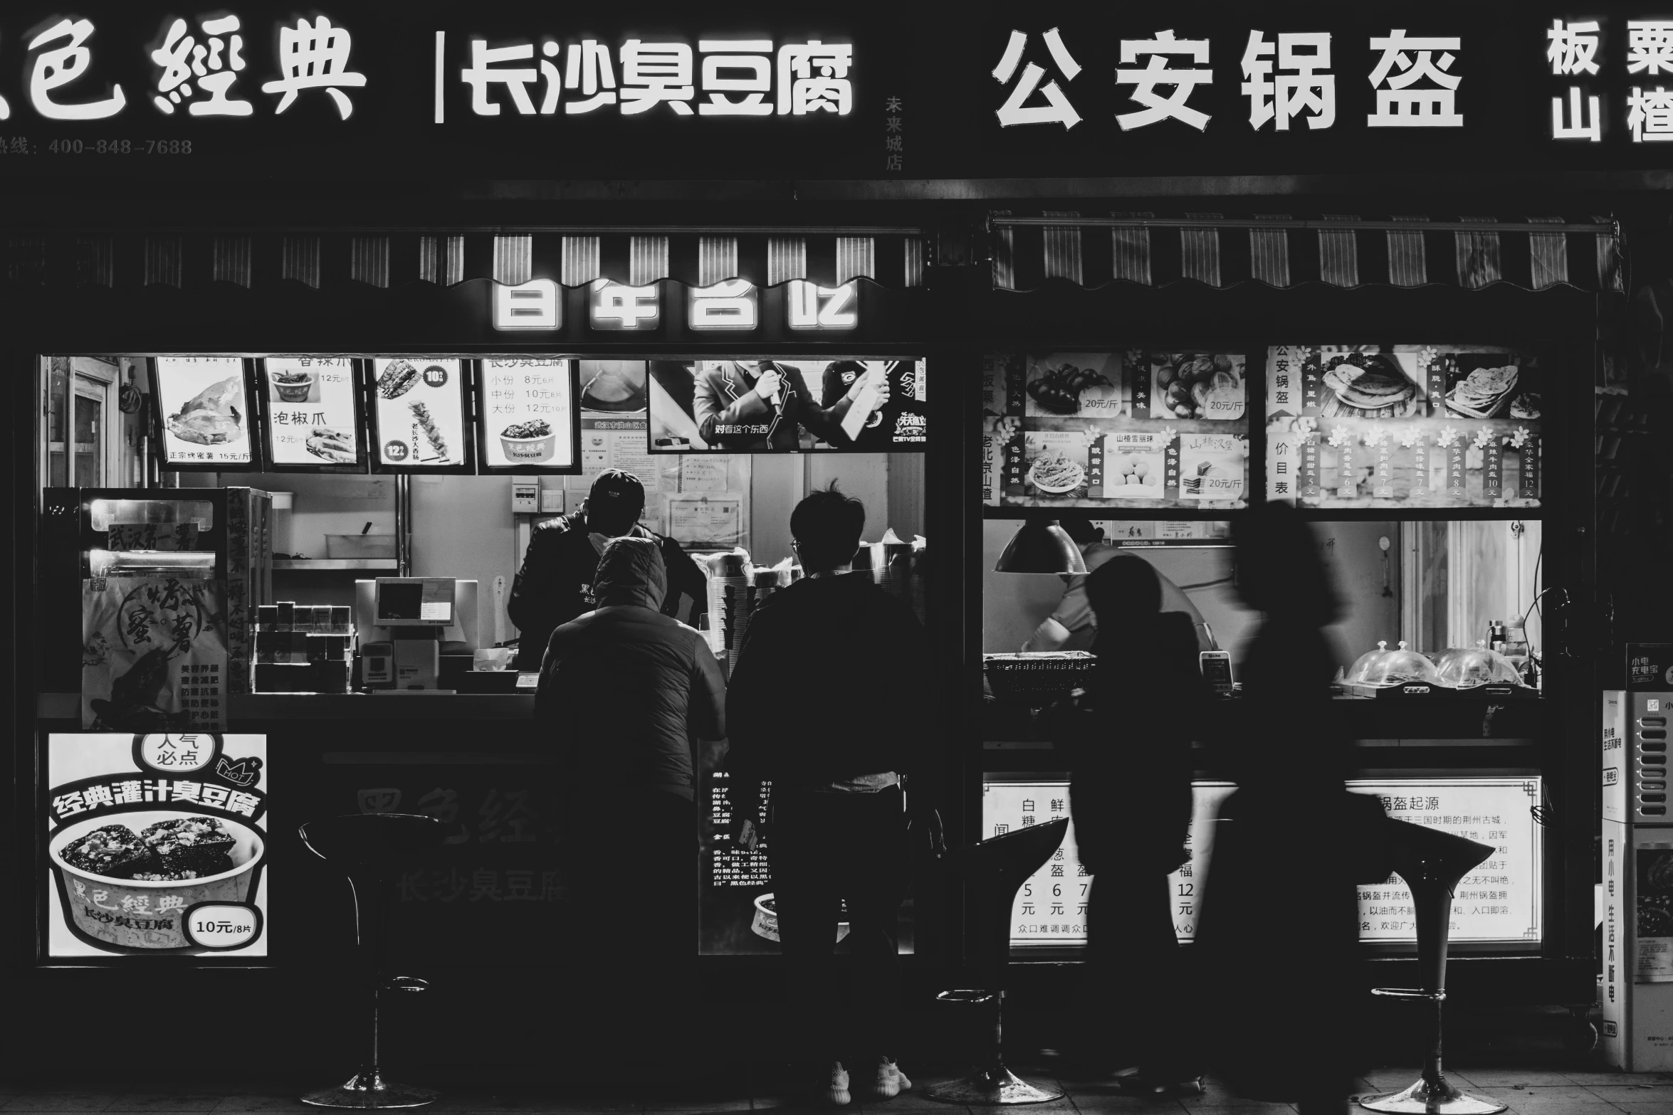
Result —
<path fill-rule="evenodd" d="M 355 582 L 360 684 L 373 690 L 445 692 L 445 660 L 477 647 L 477 582 L 378 577 Z"/>

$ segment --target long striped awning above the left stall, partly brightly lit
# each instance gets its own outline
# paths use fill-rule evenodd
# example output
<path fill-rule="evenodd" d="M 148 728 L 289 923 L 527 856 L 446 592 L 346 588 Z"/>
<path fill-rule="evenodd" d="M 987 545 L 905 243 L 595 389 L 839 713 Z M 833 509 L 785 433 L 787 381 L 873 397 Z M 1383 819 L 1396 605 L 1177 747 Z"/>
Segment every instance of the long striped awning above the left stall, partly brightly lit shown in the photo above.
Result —
<path fill-rule="evenodd" d="M 647 286 L 674 279 L 713 286 L 748 279 L 838 286 L 872 279 L 923 284 L 929 237 L 918 229 L 534 229 L 534 231 L 176 231 L 5 237 L 0 281 L 13 286 L 259 288 L 343 283 L 400 288 L 552 279 Z"/>

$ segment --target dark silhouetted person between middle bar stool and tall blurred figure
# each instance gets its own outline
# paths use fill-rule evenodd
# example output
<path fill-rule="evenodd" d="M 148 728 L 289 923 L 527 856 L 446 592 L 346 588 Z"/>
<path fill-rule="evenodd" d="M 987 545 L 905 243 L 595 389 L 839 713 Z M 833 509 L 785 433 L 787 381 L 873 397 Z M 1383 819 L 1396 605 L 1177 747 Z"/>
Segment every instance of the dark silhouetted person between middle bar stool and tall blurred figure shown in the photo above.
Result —
<path fill-rule="evenodd" d="M 1195 1090 L 1196 1011 L 1183 986 L 1168 876 L 1190 858 L 1191 737 L 1208 697 L 1196 630 L 1184 612 L 1161 610 L 1161 578 L 1141 557 L 1109 558 L 1086 578 L 1086 593 L 1097 615 L 1097 664 L 1089 709 L 1074 714 L 1079 724 L 1062 739 L 1074 839 L 1094 876 L 1081 1053 L 1104 1063 L 1131 1053 L 1136 1072 L 1124 1090 Z"/>

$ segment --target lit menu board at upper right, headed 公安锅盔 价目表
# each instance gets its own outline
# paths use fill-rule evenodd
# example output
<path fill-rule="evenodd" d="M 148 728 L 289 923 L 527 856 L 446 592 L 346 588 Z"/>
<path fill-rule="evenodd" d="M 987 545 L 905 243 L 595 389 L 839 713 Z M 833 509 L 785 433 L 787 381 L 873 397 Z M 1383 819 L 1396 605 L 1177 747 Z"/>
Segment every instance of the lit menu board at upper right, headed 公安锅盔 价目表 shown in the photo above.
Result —
<path fill-rule="evenodd" d="M 1469 344 L 1266 351 L 1266 496 L 1302 507 L 1539 507 L 1541 366 Z"/>

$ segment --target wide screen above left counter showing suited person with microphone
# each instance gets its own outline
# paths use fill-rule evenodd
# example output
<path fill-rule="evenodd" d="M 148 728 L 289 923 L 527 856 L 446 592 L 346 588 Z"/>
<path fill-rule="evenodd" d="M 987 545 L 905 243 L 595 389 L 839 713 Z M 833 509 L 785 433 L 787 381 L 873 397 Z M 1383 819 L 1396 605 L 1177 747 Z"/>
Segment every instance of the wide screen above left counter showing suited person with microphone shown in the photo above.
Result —
<path fill-rule="evenodd" d="M 649 361 L 652 453 L 900 453 L 929 443 L 923 361 Z"/>

